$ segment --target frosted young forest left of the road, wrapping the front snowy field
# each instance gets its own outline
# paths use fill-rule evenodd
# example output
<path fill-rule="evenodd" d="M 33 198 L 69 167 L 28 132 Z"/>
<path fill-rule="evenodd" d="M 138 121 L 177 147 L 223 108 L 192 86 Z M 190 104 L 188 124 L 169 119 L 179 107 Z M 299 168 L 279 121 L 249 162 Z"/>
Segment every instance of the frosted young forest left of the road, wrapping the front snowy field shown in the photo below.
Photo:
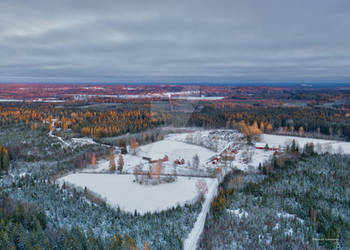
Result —
<path fill-rule="evenodd" d="M 19 127 L 1 130 L 0 142 L 12 150 L 18 149 L 11 175 L 2 177 L 0 187 L 12 199 L 42 208 L 47 215 L 49 244 L 52 248 L 59 246 L 53 249 L 113 249 L 109 246 L 115 239 L 119 243 L 129 242 L 130 246 L 134 242 L 139 249 L 143 248 L 145 241 L 150 249 L 181 249 L 201 210 L 201 204 L 195 203 L 141 216 L 109 207 L 102 199 L 101 202 L 89 201 L 84 190 L 68 186 L 65 189 L 54 184 L 56 175 L 80 168 L 76 164 L 80 156 L 86 156 L 90 151 L 103 152 L 104 147 L 98 144 L 64 147 L 49 137 L 48 131 Z M 23 143 L 32 146 L 23 147 Z M 110 152 L 110 148 L 106 149 L 106 153 Z M 52 230 L 57 232 L 57 240 L 50 238 Z M 86 248 L 81 242 L 91 243 L 93 247 Z M 45 244 L 40 243 L 40 248 L 47 249 Z"/>

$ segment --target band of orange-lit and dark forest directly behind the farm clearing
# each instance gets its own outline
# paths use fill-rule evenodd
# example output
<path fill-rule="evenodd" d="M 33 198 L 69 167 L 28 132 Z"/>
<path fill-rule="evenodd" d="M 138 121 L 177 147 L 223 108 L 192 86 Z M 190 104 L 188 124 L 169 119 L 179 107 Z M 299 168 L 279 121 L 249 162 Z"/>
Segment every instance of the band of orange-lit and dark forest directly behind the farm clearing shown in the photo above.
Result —
<path fill-rule="evenodd" d="M 168 103 L 153 106 L 126 103 L 118 108 L 92 106 L 89 109 L 34 104 L 0 107 L 0 125 L 5 127 L 21 124 L 33 129 L 49 128 L 52 119 L 56 128 L 72 129 L 95 138 L 137 133 L 159 126 L 234 129 L 243 121 L 247 125 L 256 122 L 265 133 L 350 140 L 350 113 L 325 107 L 246 107 L 205 102 L 177 109 L 169 108 Z"/>

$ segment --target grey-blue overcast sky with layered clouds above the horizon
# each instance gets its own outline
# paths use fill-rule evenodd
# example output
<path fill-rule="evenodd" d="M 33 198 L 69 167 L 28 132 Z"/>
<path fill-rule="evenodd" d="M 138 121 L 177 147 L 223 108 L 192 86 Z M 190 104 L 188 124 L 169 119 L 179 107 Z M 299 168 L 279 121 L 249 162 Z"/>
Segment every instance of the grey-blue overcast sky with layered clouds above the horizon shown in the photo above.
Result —
<path fill-rule="evenodd" d="M 350 83 L 348 0 L 1 0 L 0 82 Z"/>

